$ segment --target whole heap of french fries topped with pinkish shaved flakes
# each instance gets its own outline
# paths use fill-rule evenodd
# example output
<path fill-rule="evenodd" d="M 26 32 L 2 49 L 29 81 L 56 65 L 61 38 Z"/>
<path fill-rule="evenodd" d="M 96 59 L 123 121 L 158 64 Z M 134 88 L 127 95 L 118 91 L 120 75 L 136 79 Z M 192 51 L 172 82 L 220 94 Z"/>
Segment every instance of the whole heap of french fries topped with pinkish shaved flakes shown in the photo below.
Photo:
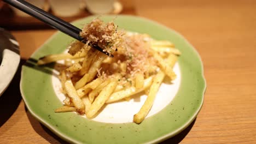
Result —
<path fill-rule="evenodd" d="M 109 31 L 113 31 L 114 34 L 118 33 L 112 25 L 108 28 L 112 28 Z M 91 28 L 90 31 L 95 30 Z M 98 46 L 106 47 L 104 50 L 114 57 L 91 49 L 88 44 L 74 41 L 69 45 L 68 53 L 40 58 L 38 65 L 65 60 L 59 79 L 66 99 L 63 100 L 64 106 L 55 112 L 76 111 L 91 119 L 97 116 L 103 105 L 130 100 L 133 98 L 132 95 L 144 92 L 148 97 L 133 115 L 133 122 L 141 123 L 152 108 L 164 77 L 168 76 L 171 80 L 176 78 L 173 66 L 181 51 L 174 48 L 170 41 L 153 40 L 148 34 L 120 33 L 119 36 L 125 38 L 121 39 L 110 37 L 110 33 L 101 37 L 82 33 L 90 40 L 103 38 L 92 44 L 100 43 Z M 117 41 L 111 41 L 113 38 Z M 113 47 L 118 48 L 118 51 L 112 49 Z"/>

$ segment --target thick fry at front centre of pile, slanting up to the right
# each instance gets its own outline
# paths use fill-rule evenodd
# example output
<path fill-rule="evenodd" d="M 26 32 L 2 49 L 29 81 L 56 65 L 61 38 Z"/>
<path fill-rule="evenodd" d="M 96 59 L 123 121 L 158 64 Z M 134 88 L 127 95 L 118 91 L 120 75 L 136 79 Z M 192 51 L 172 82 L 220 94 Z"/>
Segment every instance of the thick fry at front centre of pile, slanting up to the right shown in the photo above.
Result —
<path fill-rule="evenodd" d="M 98 97 L 95 99 L 94 103 L 91 104 L 90 110 L 88 111 L 86 117 L 92 118 L 98 110 L 106 103 L 109 96 L 113 93 L 115 87 L 117 86 L 117 81 L 111 81 L 106 87 L 102 89 Z"/>

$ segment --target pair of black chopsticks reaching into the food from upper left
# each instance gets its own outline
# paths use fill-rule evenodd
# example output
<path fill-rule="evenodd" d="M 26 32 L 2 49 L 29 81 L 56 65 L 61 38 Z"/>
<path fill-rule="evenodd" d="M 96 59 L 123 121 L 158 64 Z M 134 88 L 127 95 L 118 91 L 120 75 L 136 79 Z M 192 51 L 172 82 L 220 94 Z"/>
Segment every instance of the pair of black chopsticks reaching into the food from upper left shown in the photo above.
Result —
<path fill-rule="evenodd" d="M 5 3 L 8 3 L 12 5 L 13 7 L 24 11 L 25 13 L 37 18 L 38 20 L 47 23 L 51 27 L 58 29 L 59 31 L 69 35 L 70 37 L 77 39 L 79 41 L 82 41 L 83 43 L 86 43 L 87 40 L 80 36 L 80 32 L 82 32 L 81 29 L 71 25 L 70 23 L 63 21 L 59 19 L 58 17 L 51 15 L 47 13 L 46 11 L 39 9 L 38 7 L 24 1 L 24 0 L 3 0 Z M 109 55 L 108 52 L 103 51 L 101 47 L 97 45 L 91 45 L 98 51 L 101 51 L 102 53 L 113 57 L 113 55 Z"/>

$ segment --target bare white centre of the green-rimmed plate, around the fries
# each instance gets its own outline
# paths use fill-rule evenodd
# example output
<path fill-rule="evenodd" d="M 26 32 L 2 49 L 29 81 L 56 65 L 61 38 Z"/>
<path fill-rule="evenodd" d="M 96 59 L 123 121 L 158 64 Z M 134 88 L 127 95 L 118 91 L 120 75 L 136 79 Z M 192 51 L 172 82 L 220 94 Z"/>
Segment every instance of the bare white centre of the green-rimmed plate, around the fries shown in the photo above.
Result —
<path fill-rule="evenodd" d="M 171 103 L 172 99 L 178 92 L 179 85 L 181 83 L 181 73 L 179 70 L 179 65 L 176 63 L 173 68 L 177 75 L 177 78 L 170 82 L 167 78 L 164 83 L 159 88 L 158 94 L 156 95 L 152 109 L 149 111 L 147 117 L 158 113 L 165 106 Z M 56 71 L 54 71 L 56 73 Z M 57 97 L 63 101 L 66 97 L 61 93 L 61 82 L 56 77 L 52 76 L 52 82 L 54 86 L 54 91 Z M 134 95 L 129 101 L 120 101 L 118 103 L 107 104 L 103 106 L 100 113 L 92 120 L 104 123 L 128 123 L 132 122 L 133 115 L 135 115 L 146 101 L 147 95 L 137 94 Z M 83 116 L 86 118 L 86 116 Z M 147 118 L 146 117 L 146 118 Z"/>

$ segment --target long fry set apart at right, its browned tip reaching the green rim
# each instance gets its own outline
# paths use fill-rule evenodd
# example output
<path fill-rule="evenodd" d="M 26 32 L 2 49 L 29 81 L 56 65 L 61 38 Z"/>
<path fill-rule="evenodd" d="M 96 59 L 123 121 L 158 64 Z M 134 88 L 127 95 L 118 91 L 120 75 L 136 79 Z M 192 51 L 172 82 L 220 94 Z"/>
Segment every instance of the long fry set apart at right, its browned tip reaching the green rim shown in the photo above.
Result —
<path fill-rule="evenodd" d="M 153 79 L 152 86 L 149 89 L 147 100 L 141 107 L 141 110 L 139 110 L 139 112 L 133 116 L 133 122 L 139 124 L 148 115 L 148 112 L 154 103 L 156 93 L 158 93 L 158 89 L 162 83 L 162 80 L 164 80 L 164 77 L 165 77 L 165 73 L 162 72 L 161 70 L 159 71 L 158 74 L 156 74 L 156 76 Z"/>

